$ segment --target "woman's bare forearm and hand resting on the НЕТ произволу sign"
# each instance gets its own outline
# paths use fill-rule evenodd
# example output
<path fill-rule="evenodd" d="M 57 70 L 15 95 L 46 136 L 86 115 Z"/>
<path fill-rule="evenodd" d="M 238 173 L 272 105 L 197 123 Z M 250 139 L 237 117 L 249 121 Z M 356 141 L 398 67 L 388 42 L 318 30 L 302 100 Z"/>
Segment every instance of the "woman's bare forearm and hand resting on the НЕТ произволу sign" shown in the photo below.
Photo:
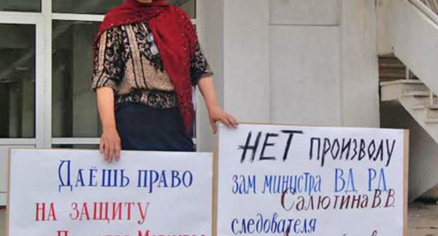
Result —
<path fill-rule="evenodd" d="M 223 122 L 227 127 L 237 127 L 237 119 L 232 117 L 227 112 L 224 112 L 218 105 L 216 100 L 215 89 L 213 85 L 213 79 L 211 77 L 204 77 L 198 81 L 199 91 L 201 91 L 202 96 L 206 103 L 208 110 L 208 117 L 210 119 L 211 128 L 213 133 L 218 131 L 218 126 L 216 122 Z"/>

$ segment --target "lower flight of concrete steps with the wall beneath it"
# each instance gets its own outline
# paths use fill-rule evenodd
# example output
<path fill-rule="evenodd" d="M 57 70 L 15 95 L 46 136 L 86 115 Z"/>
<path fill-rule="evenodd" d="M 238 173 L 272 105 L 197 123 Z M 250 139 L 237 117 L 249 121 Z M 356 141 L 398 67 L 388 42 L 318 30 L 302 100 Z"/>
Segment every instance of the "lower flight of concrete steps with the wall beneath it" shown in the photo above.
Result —
<path fill-rule="evenodd" d="M 409 129 L 409 199 L 438 199 L 438 98 L 394 55 L 379 58 L 381 125 Z"/>

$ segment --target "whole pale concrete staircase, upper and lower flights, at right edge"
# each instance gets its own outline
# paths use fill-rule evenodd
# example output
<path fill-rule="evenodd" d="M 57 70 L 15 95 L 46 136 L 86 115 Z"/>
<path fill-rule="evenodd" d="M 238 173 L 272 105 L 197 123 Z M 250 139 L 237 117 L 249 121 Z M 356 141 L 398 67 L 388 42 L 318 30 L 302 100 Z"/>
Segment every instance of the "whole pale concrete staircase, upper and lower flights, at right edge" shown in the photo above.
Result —
<path fill-rule="evenodd" d="M 380 125 L 411 131 L 409 199 L 438 199 L 438 0 L 377 3 L 381 53 L 393 53 L 379 58 Z"/>

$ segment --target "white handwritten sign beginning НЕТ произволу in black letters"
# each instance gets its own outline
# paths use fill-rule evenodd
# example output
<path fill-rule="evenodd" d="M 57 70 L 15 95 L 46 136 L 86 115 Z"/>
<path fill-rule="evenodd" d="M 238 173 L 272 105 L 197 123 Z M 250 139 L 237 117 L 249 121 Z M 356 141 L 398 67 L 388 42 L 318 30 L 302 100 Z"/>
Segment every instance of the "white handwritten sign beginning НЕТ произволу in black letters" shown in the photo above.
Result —
<path fill-rule="evenodd" d="M 406 235 L 407 133 L 220 126 L 218 235 Z"/>

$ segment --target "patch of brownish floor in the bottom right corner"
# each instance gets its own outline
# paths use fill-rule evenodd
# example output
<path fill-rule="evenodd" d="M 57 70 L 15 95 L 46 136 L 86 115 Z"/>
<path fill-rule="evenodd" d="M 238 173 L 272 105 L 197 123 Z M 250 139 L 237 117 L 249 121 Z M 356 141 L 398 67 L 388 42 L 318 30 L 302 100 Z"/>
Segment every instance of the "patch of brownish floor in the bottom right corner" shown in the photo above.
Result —
<path fill-rule="evenodd" d="M 409 204 L 408 235 L 438 236 L 438 204 Z"/>

